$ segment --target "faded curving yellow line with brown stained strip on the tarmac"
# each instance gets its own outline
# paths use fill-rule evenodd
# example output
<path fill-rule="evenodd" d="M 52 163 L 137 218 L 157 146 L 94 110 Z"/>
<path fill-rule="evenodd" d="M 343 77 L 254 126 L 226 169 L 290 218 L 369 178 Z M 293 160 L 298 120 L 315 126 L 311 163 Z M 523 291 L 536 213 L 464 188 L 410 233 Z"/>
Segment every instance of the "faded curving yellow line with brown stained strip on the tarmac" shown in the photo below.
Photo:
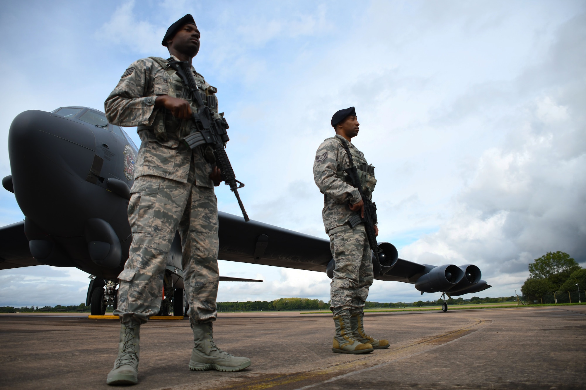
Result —
<path fill-rule="evenodd" d="M 384 367 L 396 361 L 404 360 L 431 350 L 435 350 L 436 348 L 442 347 L 443 345 L 453 343 L 454 341 L 460 340 L 469 334 L 475 333 L 476 331 L 483 329 L 485 326 L 488 326 L 491 323 L 492 320 L 475 319 L 475 323 L 473 324 L 469 324 L 460 329 L 448 331 L 444 334 L 427 337 L 423 340 L 420 339 L 411 344 L 404 345 L 403 347 L 394 348 L 392 350 L 376 350 L 374 353 L 367 355 L 346 355 L 356 357 L 354 360 L 349 362 L 342 362 L 331 365 L 330 367 L 318 368 L 316 370 L 305 372 L 292 372 L 286 374 L 259 373 L 256 378 L 251 378 L 250 374 L 248 374 L 245 378 L 233 378 L 237 381 L 236 383 L 232 382 L 231 384 L 227 384 L 224 382 L 224 385 L 222 385 L 216 382 L 213 388 L 223 390 L 261 390 L 274 388 L 275 386 L 287 386 L 287 388 L 291 388 L 291 385 L 294 385 L 296 382 L 315 381 L 318 379 L 319 382 L 296 388 L 296 390 L 310 389 L 314 388 L 315 386 L 349 377 L 351 375 L 360 374 L 370 370 L 376 370 L 377 368 Z M 354 371 L 347 372 L 349 370 Z M 340 375 L 340 372 L 344 371 L 346 372 Z M 207 388 L 207 386 L 205 388 Z"/>

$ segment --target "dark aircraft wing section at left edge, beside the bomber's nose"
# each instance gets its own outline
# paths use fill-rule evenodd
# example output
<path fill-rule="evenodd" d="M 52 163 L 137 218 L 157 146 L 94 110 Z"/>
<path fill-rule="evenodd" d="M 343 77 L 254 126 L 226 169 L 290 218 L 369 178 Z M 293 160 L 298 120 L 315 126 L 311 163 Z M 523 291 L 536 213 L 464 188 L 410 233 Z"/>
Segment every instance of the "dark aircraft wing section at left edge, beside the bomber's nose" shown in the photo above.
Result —
<path fill-rule="evenodd" d="M 40 265 L 29 251 L 25 221 L 0 227 L 0 269 Z"/>

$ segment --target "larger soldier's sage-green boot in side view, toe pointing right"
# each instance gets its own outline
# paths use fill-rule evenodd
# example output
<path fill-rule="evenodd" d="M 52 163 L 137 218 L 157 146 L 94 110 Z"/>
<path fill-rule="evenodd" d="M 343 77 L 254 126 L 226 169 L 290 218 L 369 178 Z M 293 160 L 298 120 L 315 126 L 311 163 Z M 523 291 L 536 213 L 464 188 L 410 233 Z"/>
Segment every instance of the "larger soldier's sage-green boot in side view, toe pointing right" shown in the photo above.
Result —
<path fill-rule="evenodd" d="M 212 323 L 191 324 L 193 329 L 193 351 L 189 361 L 192 371 L 241 371 L 250 365 L 250 359 L 232 356 L 216 346 Z"/>

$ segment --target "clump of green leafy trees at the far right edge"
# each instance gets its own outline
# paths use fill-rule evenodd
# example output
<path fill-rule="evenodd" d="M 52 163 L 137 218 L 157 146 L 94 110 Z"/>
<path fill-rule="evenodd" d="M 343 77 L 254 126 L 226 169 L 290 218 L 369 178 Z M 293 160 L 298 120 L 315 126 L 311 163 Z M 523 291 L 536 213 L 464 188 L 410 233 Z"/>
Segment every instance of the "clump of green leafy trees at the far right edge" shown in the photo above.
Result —
<path fill-rule="evenodd" d="M 551 303 L 554 299 L 565 303 L 571 296 L 578 302 L 578 286 L 586 288 L 586 268 L 565 252 L 547 252 L 529 264 L 529 278 L 521 292 L 527 303 Z"/>

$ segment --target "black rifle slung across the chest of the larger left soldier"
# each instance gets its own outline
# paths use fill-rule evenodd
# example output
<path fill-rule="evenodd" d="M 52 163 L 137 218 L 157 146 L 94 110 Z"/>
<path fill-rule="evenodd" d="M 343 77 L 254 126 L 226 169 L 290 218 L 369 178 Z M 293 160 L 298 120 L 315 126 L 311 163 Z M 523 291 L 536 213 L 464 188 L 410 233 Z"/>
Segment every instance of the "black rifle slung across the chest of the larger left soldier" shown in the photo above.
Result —
<path fill-rule="evenodd" d="M 216 157 L 216 165 L 222 171 L 222 180 L 230 186 L 230 190 L 236 195 L 238 205 L 240 206 L 240 210 L 242 210 L 242 215 L 244 215 L 244 221 L 250 221 L 238 193 L 238 189 L 244 187 L 244 183 L 236 180 L 236 175 L 234 175 L 234 170 L 232 169 L 232 165 L 226 154 L 226 149 L 224 149 L 226 142 L 230 141 L 230 138 L 228 138 L 228 132 L 226 131 L 230 128 L 228 122 L 226 122 L 224 117 L 222 117 L 222 119 L 214 119 L 213 112 L 209 108 L 207 99 L 206 102 L 204 102 L 199 95 L 199 87 L 195 82 L 195 77 L 193 77 L 191 65 L 188 61 L 175 61 L 173 57 L 168 61 L 169 66 L 171 66 L 181 80 L 183 80 L 183 84 L 188 87 L 197 103 L 197 111 L 192 112 L 192 118 L 195 122 L 196 128 L 185 137 L 185 142 L 191 149 L 195 149 L 197 146 L 205 143 L 212 146 L 214 156 Z M 238 184 L 240 184 L 240 186 Z"/>

